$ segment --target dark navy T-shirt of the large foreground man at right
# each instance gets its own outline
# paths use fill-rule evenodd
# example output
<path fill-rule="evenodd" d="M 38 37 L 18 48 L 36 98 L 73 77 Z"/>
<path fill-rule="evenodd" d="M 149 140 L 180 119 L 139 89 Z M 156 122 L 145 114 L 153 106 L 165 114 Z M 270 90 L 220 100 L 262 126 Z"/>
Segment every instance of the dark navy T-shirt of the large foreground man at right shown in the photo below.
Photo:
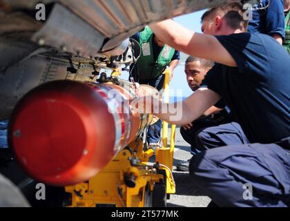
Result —
<path fill-rule="evenodd" d="M 290 57 L 263 34 L 216 37 L 237 68 L 216 64 L 202 87 L 218 93 L 250 142 L 278 142 L 290 136 Z"/>

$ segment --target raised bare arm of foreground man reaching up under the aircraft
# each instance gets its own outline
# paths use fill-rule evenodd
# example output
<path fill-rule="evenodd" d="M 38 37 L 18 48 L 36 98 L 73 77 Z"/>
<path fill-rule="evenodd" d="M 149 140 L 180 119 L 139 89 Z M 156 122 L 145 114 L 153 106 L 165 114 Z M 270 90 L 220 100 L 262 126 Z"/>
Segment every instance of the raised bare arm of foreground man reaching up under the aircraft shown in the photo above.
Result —
<path fill-rule="evenodd" d="M 236 67 L 229 52 L 212 35 L 193 32 L 169 19 L 153 23 L 150 28 L 165 44 L 188 55 Z"/>

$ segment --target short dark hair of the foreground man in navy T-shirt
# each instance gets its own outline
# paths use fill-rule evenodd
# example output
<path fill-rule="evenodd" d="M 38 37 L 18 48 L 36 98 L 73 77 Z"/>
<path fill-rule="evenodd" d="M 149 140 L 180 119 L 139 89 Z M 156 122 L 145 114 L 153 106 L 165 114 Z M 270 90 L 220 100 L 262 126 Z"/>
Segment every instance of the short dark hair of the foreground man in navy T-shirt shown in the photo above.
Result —
<path fill-rule="evenodd" d="M 204 19 L 215 15 L 217 12 L 223 12 L 224 19 L 226 20 L 226 23 L 229 27 L 232 29 L 242 29 L 247 31 L 249 21 L 244 20 L 244 11 L 245 10 L 243 9 L 242 3 L 238 2 L 217 6 L 210 8 L 204 13 L 204 15 L 202 15 L 202 22 Z"/>

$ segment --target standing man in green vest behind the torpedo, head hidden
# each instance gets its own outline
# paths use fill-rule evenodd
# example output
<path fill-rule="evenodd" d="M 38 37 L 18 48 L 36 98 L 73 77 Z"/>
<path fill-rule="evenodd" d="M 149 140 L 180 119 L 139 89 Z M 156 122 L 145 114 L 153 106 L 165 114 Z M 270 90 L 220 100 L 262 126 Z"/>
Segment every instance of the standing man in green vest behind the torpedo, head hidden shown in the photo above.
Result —
<path fill-rule="evenodd" d="M 131 38 L 139 42 L 142 53 L 137 63 L 130 67 L 130 77 L 139 84 L 148 84 L 162 90 L 165 78 L 162 73 L 168 68 L 172 79 L 173 70 L 180 61 L 180 52 L 160 41 L 148 26 Z M 160 142 L 161 128 L 161 120 L 148 128 L 146 141 L 153 148 Z"/>

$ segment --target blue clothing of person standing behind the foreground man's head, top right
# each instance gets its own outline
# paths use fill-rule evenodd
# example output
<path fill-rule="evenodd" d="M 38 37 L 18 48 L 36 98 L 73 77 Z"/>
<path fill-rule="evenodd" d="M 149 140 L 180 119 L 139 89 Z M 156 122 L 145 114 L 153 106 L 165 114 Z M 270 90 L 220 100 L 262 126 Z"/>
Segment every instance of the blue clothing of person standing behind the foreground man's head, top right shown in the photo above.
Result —
<path fill-rule="evenodd" d="M 266 9 L 260 9 L 270 3 Z M 248 32 L 267 35 L 280 34 L 285 38 L 283 0 L 263 0 L 262 6 L 253 6 L 253 19 L 249 20 Z"/>

